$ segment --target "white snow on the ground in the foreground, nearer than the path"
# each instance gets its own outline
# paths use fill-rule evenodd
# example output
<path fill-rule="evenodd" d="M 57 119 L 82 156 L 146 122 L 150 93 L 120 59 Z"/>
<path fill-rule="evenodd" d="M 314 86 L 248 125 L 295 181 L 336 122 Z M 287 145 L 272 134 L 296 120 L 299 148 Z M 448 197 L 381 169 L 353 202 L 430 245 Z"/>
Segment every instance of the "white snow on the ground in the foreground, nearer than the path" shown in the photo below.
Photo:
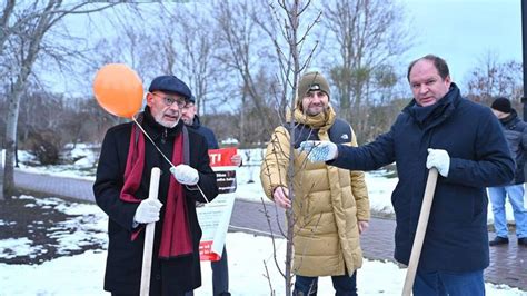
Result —
<path fill-rule="evenodd" d="M 24 196 L 22 198 L 33 198 Z M 72 249 L 91 235 L 97 239 L 106 239 L 107 216 L 96 206 L 77 203 L 64 203 L 60 198 L 49 198 L 41 203 L 34 199 L 36 206 L 53 206 L 67 214 L 82 214 L 72 218 L 68 224 L 76 224 L 76 233 L 64 236 L 61 248 Z M 3 221 L 7 223 L 7 221 Z M 277 246 L 277 260 L 285 258 L 286 243 L 284 239 L 275 241 Z M 6 256 L 6 249 L 16 246 L 16 254 L 23 256 L 31 254 L 32 249 L 24 239 L 0 240 L 0 256 Z M 99 250 L 89 250 L 81 255 L 64 256 L 41 265 L 7 265 L 0 264 L 0 295 L 109 295 L 102 290 L 105 275 L 106 247 Z M 229 233 L 229 274 L 230 292 L 232 295 L 270 295 L 270 287 L 276 295 L 284 295 L 284 279 L 281 278 L 274 258 L 272 241 L 268 237 L 253 236 L 243 233 Z M 267 280 L 266 265 L 269 270 L 270 282 Z M 210 264 L 203 262 L 201 266 L 203 286 L 195 295 L 210 295 L 211 272 Z M 359 295 L 400 295 L 406 276 L 406 269 L 400 269 L 391 262 L 365 260 L 358 272 Z M 504 285 L 486 284 L 488 295 L 527 295 L 517 288 Z M 319 295 L 334 294 L 329 277 L 319 282 Z"/>

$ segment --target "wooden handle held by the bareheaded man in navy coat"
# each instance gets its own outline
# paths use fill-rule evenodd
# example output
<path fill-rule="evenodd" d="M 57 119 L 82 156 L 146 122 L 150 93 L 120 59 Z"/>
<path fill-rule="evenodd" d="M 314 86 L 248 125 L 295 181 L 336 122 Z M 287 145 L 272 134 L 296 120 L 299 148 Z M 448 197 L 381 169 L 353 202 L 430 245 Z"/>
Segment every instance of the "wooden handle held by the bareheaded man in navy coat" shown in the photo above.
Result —
<path fill-rule="evenodd" d="M 426 227 L 428 218 L 430 217 L 431 203 L 434 201 L 434 193 L 436 191 L 437 169 L 431 168 L 428 171 L 428 179 L 426 181 L 425 196 L 422 197 L 421 211 L 419 214 L 419 221 L 417 223 L 416 237 L 411 246 L 410 262 L 406 272 L 405 286 L 402 287 L 402 296 L 410 296 L 414 280 L 416 278 L 417 265 L 421 256 L 422 241 L 425 240 Z"/>

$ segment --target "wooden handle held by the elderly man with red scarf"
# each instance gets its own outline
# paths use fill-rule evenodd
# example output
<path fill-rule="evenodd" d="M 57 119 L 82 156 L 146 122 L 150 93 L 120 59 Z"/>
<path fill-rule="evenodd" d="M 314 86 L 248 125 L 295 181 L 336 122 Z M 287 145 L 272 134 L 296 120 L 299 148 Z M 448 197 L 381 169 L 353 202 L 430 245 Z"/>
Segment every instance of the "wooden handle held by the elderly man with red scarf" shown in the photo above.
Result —
<path fill-rule="evenodd" d="M 161 170 L 157 167 L 152 168 L 150 172 L 150 190 L 148 193 L 149 199 L 158 199 L 159 191 L 159 176 Z M 148 296 L 150 293 L 150 273 L 152 268 L 152 251 L 153 251 L 153 234 L 156 231 L 156 223 L 147 224 L 145 231 L 145 246 L 142 250 L 142 272 L 141 272 L 141 296 Z"/>

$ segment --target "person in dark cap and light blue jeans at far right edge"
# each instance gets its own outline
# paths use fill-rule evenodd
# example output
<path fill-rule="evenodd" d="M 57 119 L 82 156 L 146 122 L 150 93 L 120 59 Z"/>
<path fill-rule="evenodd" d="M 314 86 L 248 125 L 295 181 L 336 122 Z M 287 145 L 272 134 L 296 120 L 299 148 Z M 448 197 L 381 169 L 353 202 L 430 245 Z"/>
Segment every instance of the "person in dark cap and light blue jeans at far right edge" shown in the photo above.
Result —
<path fill-rule="evenodd" d="M 527 247 L 527 208 L 524 205 L 527 125 L 518 118 L 518 114 L 513 109 L 507 98 L 496 98 L 490 108 L 504 127 L 505 138 L 516 160 L 516 174 L 510 184 L 488 188 L 493 204 L 494 228 L 496 229 L 496 237 L 490 240 L 489 245 L 498 246 L 509 243 L 505 215 L 505 199 L 508 196 L 510 205 L 513 205 L 518 245 Z"/>

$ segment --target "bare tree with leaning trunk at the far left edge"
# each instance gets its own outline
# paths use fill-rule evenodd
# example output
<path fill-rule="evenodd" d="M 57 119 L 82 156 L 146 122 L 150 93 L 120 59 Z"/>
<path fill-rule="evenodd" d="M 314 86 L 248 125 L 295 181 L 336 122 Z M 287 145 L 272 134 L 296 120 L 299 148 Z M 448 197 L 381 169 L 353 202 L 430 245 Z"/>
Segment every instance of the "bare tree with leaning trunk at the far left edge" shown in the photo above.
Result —
<path fill-rule="evenodd" d="M 9 38 L 18 41 L 18 52 L 16 52 L 16 61 L 18 69 L 10 93 L 8 95 L 9 107 L 6 127 L 6 166 L 4 166 L 4 188 L 6 196 L 14 194 L 13 179 L 13 158 L 17 141 L 17 126 L 20 107 L 20 98 L 26 89 L 28 78 L 32 72 L 36 60 L 42 51 L 42 41 L 44 36 L 50 32 L 51 28 L 57 26 L 68 14 L 91 13 L 101 11 L 116 3 L 99 4 L 96 8 L 89 8 L 90 3 L 80 2 L 73 4 L 64 4 L 61 0 L 50 0 L 43 7 L 40 2 L 20 8 L 20 16 L 14 23 L 21 23 L 20 30 L 17 30 Z M 17 6 L 14 7 L 17 9 Z M 28 21 L 21 21 L 28 20 Z"/>

